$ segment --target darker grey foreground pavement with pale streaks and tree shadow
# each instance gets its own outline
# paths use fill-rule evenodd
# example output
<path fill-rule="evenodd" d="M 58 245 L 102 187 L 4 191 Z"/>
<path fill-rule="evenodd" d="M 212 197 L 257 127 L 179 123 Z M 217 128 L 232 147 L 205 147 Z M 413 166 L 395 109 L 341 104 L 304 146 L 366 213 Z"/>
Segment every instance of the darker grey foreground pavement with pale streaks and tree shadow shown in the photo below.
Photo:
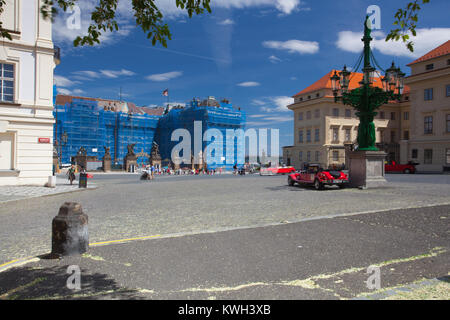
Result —
<path fill-rule="evenodd" d="M 83 255 L 0 264 L 0 301 L 449 300 L 449 218 L 443 205 L 92 244 Z M 70 266 L 80 290 L 67 288 Z"/>

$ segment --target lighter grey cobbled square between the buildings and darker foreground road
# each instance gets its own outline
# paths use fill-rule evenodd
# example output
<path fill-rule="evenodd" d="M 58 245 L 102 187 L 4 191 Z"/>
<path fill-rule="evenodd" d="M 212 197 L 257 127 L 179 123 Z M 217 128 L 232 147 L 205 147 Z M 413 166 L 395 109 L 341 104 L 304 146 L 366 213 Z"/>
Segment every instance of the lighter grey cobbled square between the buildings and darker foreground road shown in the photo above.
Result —
<path fill-rule="evenodd" d="M 2 203 L 0 264 L 49 252 L 51 221 L 65 201 L 89 216 L 92 242 L 203 233 L 334 215 L 450 203 L 449 175 L 390 175 L 383 189 L 289 187 L 287 176 L 95 175 L 95 190 Z"/>

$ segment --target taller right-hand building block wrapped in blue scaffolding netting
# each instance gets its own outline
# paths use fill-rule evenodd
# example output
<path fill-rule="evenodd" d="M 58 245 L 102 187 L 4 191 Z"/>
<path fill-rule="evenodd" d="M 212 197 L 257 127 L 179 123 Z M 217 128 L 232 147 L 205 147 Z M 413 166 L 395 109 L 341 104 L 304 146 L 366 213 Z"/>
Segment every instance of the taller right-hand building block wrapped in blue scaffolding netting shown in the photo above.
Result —
<path fill-rule="evenodd" d="M 177 129 L 186 129 L 192 148 L 191 154 L 179 155 L 181 166 L 191 166 L 196 162 L 196 167 L 206 167 L 208 170 L 231 170 L 234 165 L 241 166 L 245 161 L 245 121 L 245 113 L 239 108 L 234 109 L 225 99 L 220 102 L 214 97 L 193 99 L 186 107 L 167 110 L 159 121 L 156 140 L 160 144 L 162 158 L 167 161 L 172 159 L 172 150 L 180 143 L 176 138 L 172 141 L 172 134 Z M 230 131 L 237 132 L 239 129 L 242 131 L 236 136 L 230 135 Z M 213 137 L 208 137 L 208 133 Z M 239 134 L 241 139 L 238 138 Z M 198 154 L 195 154 L 195 140 L 201 144 Z M 211 147 L 212 144 L 215 144 L 215 148 Z"/>

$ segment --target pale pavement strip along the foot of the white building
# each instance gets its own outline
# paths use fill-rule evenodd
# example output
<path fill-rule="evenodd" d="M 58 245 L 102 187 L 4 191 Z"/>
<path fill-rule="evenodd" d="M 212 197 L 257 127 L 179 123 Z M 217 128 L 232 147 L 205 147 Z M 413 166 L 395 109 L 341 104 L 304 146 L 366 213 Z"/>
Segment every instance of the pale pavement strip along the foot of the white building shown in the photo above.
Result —
<path fill-rule="evenodd" d="M 88 188 L 95 188 L 95 185 L 88 184 Z M 70 185 L 67 179 L 61 178 L 56 180 L 55 188 L 43 186 L 0 186 L 0 203 L 81 190 L 83 189 L 78 188 L 78 183 Z"/>

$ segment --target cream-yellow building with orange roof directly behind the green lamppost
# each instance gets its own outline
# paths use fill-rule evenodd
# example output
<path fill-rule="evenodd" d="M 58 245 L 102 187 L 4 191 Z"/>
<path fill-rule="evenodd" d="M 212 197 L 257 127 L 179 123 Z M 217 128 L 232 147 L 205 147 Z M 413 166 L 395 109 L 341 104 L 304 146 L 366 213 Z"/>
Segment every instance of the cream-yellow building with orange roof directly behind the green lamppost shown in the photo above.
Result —
<path fill-rule="evenodd" d="M 344 167 L 345 145 L 356 143 L 359 119 L 351 106 L 334 102 L 329 80 L 333 73 L 297 93 L 288 106 L 294 113 L 294 145 L 283 148 L 283 160 L 297 169 L 305 163 Z M 361 78 L 362 74 L 353 73 L 349 87 L 359 86 Z M 375 85 L 381 86 L 381 81 L 376 79 Z M 374 119 L 377 146 L 389 160 L 402 161 L 401 146 L 410 138 L 409 119 L 408 88 L 401 102 L 383 105 Z"/>

